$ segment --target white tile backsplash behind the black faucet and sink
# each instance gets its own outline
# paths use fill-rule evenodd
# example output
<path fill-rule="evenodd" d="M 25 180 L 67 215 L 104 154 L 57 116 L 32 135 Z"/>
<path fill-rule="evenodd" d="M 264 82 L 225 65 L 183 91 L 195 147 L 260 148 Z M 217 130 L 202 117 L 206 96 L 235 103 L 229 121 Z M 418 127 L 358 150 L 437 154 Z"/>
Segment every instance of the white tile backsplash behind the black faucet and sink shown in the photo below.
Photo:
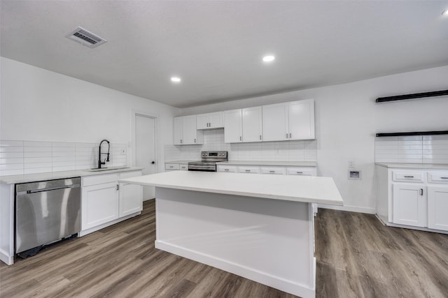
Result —
<path fill-rule="evenodd" d="M 102 152 L 107 152 L 105 143 Z M 127 164 L 127 144 L 111 143 L 110 152 L 106 166 Z M 0 176 L 82 170 L 97 163 L 97 143 L 0 140 Z"/>

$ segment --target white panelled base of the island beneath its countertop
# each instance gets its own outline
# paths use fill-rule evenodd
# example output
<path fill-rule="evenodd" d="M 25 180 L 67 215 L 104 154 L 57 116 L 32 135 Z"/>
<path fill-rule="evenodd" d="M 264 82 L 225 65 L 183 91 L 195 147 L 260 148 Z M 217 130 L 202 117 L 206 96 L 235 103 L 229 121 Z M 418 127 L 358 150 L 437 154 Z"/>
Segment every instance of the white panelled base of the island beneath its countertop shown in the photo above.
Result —
<path fill-rule="evenodd" d="M 160 187 L 155 198 L 156 248 L 315 296 L 311 203 Z"/>

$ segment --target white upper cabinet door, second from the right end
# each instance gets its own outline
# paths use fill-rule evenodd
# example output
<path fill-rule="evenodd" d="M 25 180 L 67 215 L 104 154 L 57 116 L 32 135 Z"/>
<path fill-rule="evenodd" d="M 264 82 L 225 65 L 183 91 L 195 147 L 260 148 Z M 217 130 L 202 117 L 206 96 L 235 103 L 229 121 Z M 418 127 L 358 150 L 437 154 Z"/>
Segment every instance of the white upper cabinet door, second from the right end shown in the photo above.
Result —
<path fill-rule="evenodd" d="M 262 106 L 263 141 L 288 140 L 288 103 Z"/>

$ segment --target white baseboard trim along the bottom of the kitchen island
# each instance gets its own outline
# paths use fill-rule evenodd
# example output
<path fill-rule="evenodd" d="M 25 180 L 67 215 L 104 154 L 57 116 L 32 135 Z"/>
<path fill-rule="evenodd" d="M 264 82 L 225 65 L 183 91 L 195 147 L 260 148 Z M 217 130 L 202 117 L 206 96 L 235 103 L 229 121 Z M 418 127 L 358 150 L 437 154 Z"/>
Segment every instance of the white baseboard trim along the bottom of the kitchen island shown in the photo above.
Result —
<path fill-rule="evenodd" d="M 235 262 L 222 260 L 212 255 L 206 255 L 204 253 L 192 251 L 188 248 L 183 248 L 180 246 L 176 246 L 174 244 L 169 244 L 165 241 L 156 240 L 155 248 L 161 249 L 162 251 L 167 251 L 169 253 L 174 253 L 174 255 L 180 255 L 183 258 L 188 258 L 196 262 L 201 262 L 202 264 L 216 267 L 224 271 L 228 271 L 232 274 L 237 274 L 244 278 L 248 278 L 252 281 L 262 283 L 263 285 L 268 285 L 269 287 L 276 288 L 278 290 L 282 290 L 284 292 L 288 292 L 290 294 L 297 295 L 299 297 L 303 298 L 316 297 L 315 286 L 314 289 L 310 289 L 304 285 L 300 285 L 299 283 L 294 283 L 293 281 L 288 281 L 284 278 L 279 278 L 278 276 L 273 276 L 262 271 L 257 271 L 253 268 L 241 266 Z M 316 268 L 316 258 L 314 258 L 314 268 Z"/>

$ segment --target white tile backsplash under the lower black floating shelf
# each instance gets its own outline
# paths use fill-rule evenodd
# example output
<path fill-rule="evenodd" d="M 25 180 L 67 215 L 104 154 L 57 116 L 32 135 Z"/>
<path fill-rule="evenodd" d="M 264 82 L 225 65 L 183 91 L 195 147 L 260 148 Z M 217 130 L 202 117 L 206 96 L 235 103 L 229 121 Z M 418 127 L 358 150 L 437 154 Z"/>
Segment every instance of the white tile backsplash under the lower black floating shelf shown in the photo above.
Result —
<path fill-rule="evenodd" d="M 377 137 L 375 161 L 448 164 L 448 135 Z"/>

